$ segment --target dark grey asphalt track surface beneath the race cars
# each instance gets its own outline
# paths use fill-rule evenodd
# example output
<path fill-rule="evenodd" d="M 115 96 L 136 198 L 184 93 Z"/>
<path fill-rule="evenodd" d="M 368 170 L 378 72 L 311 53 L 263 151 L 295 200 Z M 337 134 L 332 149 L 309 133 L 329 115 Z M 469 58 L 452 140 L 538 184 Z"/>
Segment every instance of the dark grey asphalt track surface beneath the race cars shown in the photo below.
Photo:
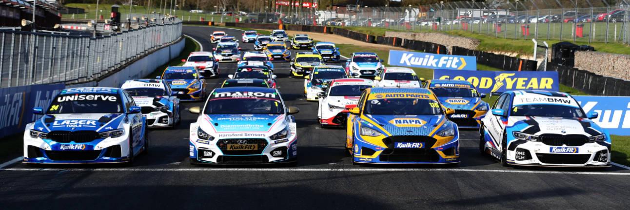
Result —
<path fill-rule="evenodd" d="M 210 50 L 209 34 L 224 30 L 184 26 Z M 334 40 L 328 40 L 334 41 Z M 241 43 L 253 50 L 249 43 Z M 297 106 L 297 166 L 217 167 L 188 163 L 188 124 L 183 111 L 175 130 L 151 130 L 148 155 L 132 167 L 23 163 L 0 169 L 0 209 L 627 209 L 630 170 L 501 167 L 479 155 L 475 131 L 461 131 L 461 160 L 452 167 L 352 165 L 343 150 L 344 130 L 321 129 L 316 103 L 304 101 L 303 80 L 275 63 L 288 106 Z M 236 64 L 221 63 L 221 78 Z M 184 108 L 201 106 L 186 102 Z"/>

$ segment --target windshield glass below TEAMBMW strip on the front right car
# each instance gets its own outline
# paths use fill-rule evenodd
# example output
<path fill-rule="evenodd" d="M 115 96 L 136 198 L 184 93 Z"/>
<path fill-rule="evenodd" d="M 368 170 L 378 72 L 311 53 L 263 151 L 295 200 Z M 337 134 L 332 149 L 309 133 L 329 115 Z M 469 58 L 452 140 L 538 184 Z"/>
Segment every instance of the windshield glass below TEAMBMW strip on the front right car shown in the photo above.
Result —
<path fill-rule="evenodd" d="M 584 118 L 580 108 L 555 104 L 525 104 L 512 108 L 511 116 L 540 116 L 560 118 Z"/>

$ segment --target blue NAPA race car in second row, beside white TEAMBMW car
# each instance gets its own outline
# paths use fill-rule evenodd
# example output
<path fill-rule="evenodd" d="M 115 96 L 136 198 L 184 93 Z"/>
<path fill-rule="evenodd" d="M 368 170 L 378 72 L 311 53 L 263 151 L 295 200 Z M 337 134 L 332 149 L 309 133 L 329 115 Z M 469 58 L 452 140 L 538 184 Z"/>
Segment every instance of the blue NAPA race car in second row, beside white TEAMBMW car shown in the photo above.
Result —
<path fill-rule="evenodd" d="M 442 106 L 455 110 L 447 117 L 459 128 L 479 128 L 481 119 L 490 109 L 490 105 L 481 100 L 486 94 L 479 94 L 466 80 L 428 80 L 425 87 L 433 91 Z"/>

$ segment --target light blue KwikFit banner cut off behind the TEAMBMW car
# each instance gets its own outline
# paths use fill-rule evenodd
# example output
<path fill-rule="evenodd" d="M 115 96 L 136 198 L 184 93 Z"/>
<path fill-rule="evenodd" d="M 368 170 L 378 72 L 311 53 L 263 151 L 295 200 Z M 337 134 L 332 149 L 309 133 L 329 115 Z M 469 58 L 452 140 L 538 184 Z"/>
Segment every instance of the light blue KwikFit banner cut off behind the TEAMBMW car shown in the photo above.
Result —
<path fill-rule="evenodd" d="M 595 111 L 592 119 L 611 135 L 630 135 L 630 97 L 624 96 L 573 96 L 586 113 Z"/>

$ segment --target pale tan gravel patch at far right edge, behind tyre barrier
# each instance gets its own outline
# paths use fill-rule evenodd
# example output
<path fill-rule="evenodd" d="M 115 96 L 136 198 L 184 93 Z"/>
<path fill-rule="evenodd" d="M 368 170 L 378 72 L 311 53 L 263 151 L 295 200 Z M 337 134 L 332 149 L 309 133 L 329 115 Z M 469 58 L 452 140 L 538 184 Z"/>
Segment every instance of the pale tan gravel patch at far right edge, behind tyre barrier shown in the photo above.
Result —
<path fill-rule="evenodd" d="M 575 68 L 605 77 L 630 80 L 630 55 L 577 51 Z"/>

